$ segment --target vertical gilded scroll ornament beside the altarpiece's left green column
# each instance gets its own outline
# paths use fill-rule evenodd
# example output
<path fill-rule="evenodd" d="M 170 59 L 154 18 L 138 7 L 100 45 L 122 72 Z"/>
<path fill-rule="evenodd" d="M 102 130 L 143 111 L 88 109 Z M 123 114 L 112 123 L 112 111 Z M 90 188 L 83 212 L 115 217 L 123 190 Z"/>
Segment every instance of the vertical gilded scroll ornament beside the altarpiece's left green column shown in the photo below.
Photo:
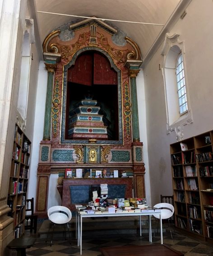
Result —
<path fill-rule="evenodd" d="M 54 87 L 54 95 L 52 101 L 52 132 L 54 138 L 57 136 L 58 130 L 58 112 L 60 107 L 60 99 L 59 99 L 59 77 L 55 80 L 55 87 Z"/>

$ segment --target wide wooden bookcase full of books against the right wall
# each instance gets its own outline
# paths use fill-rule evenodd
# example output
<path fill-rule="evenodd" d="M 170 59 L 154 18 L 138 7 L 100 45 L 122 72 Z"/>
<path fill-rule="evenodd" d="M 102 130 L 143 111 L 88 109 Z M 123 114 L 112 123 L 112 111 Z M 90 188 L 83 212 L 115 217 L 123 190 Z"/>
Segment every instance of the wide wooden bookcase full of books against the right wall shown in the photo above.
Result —
<path fill-rule="evenodd" d="M 213 131 L 170 145 L 175 225 L 213 239 Z"/>

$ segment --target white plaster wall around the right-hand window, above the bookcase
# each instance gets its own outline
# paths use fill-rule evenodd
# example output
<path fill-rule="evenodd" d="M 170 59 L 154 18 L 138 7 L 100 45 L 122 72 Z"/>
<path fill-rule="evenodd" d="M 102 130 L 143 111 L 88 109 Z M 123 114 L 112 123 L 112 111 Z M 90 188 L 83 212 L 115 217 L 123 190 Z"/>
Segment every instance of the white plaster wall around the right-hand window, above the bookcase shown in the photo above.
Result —
<path fill-rule="evenodd" d="M 183 127 L 184 139 L 213 129 L 213 2 L 191 1 L 187 14 L 171 29 L 180 33 L 185 44 L 186 82 L 193 123 Z M 170 144 L 176 142 L 175 132 L 167 135 L 167 116 L 161 56 L 162 45 L 144 68 L 148 158 L 152 204 L 160 194 L 172 195 Z"/>

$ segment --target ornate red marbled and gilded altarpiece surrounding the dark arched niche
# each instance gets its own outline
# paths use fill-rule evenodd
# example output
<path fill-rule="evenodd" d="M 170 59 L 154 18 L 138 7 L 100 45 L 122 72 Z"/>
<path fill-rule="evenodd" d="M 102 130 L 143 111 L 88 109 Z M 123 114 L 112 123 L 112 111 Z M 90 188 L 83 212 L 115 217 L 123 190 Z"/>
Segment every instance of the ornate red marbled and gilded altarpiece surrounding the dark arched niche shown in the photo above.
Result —
<path fill-rule="evenodd" d="M 131 172 L 134 176 L 134 196 L 145 196 L 143 143 L 139 139 L 136 92 L 136 76 L 142 60 L 137 44 L 123 34 L 101 20 L 91 18 L 56 29 L 43 43 L 48 82 L 44 136 L 40 144 L 37 170 L 38 214 L 45 214 L 47 210 L 51 173 L 63 173 L 65 168 L 110 168 Z M 117 136 L 111 139 L 107 139 L 105 135 L 93 136 L 96 127 L 79 128 L 78 125 L 82 122 L 78 120 L 78 125 L 73 130 L 70 129 L 71 132 L 81 129 L 80 132 L 83 133 L 87 129 L 88 136 L 79 135 L 82 137 L 76 136 L 76 139 L 73 134 L 70 139 L 67 135 L 68 73 L 79 56 L 87 52 L 103 56 L 116 73 Z M 94 103 L 91 98 L 87 101 L 92 102 L 92 105 L 86 106 L 86 111 L 95 112 L 97 102 Z M 75 111 L 74 119 L 86 118 L 88 121 L 100 118 L 85 117 L 85 113 L 78 116 L 79 112 L 84 111 L 83 107 L 80 106 Z M 103 127 L 105 124 L 98 128 L 97 133 L 106 133 L 107 129 L 104 130 Z M 59 183 L 61 182 L 63 178 L 59 177 Z"/>

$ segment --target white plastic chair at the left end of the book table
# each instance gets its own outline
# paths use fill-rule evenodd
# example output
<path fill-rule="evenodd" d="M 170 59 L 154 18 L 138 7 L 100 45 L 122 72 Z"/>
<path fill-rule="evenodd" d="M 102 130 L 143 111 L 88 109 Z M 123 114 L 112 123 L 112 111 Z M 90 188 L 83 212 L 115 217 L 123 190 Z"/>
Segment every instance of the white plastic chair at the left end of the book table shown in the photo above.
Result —
<path fill-rule="evenodd" d="M 47 215 L 48 215 L 48 218 L 51 221 L 51 223 L 50 223 L 49 230 L 47 233 L 46 242 L 47 242 L 47 238 L 48 238 L 48 235 L 50 232 L 50 227 L 51 227 L 52 223 L 54 225 L 53 225 L 53 232 L 52 232 L 52 237 L 51 237 L 51 245 L 52 245 L 54 228 L 55 228 L 56 224 L 64 224 L 65 238 L 66 238 L 66 228 L 67 228 L 68 235 L 69 235 L 69 242 L 70 242 L 69 221 L 72 219 L 71 211 L 65 206 L 57 205 L 57 206 L 52 206 L 51 208 L 49 208 L 47 211 Z"/>

